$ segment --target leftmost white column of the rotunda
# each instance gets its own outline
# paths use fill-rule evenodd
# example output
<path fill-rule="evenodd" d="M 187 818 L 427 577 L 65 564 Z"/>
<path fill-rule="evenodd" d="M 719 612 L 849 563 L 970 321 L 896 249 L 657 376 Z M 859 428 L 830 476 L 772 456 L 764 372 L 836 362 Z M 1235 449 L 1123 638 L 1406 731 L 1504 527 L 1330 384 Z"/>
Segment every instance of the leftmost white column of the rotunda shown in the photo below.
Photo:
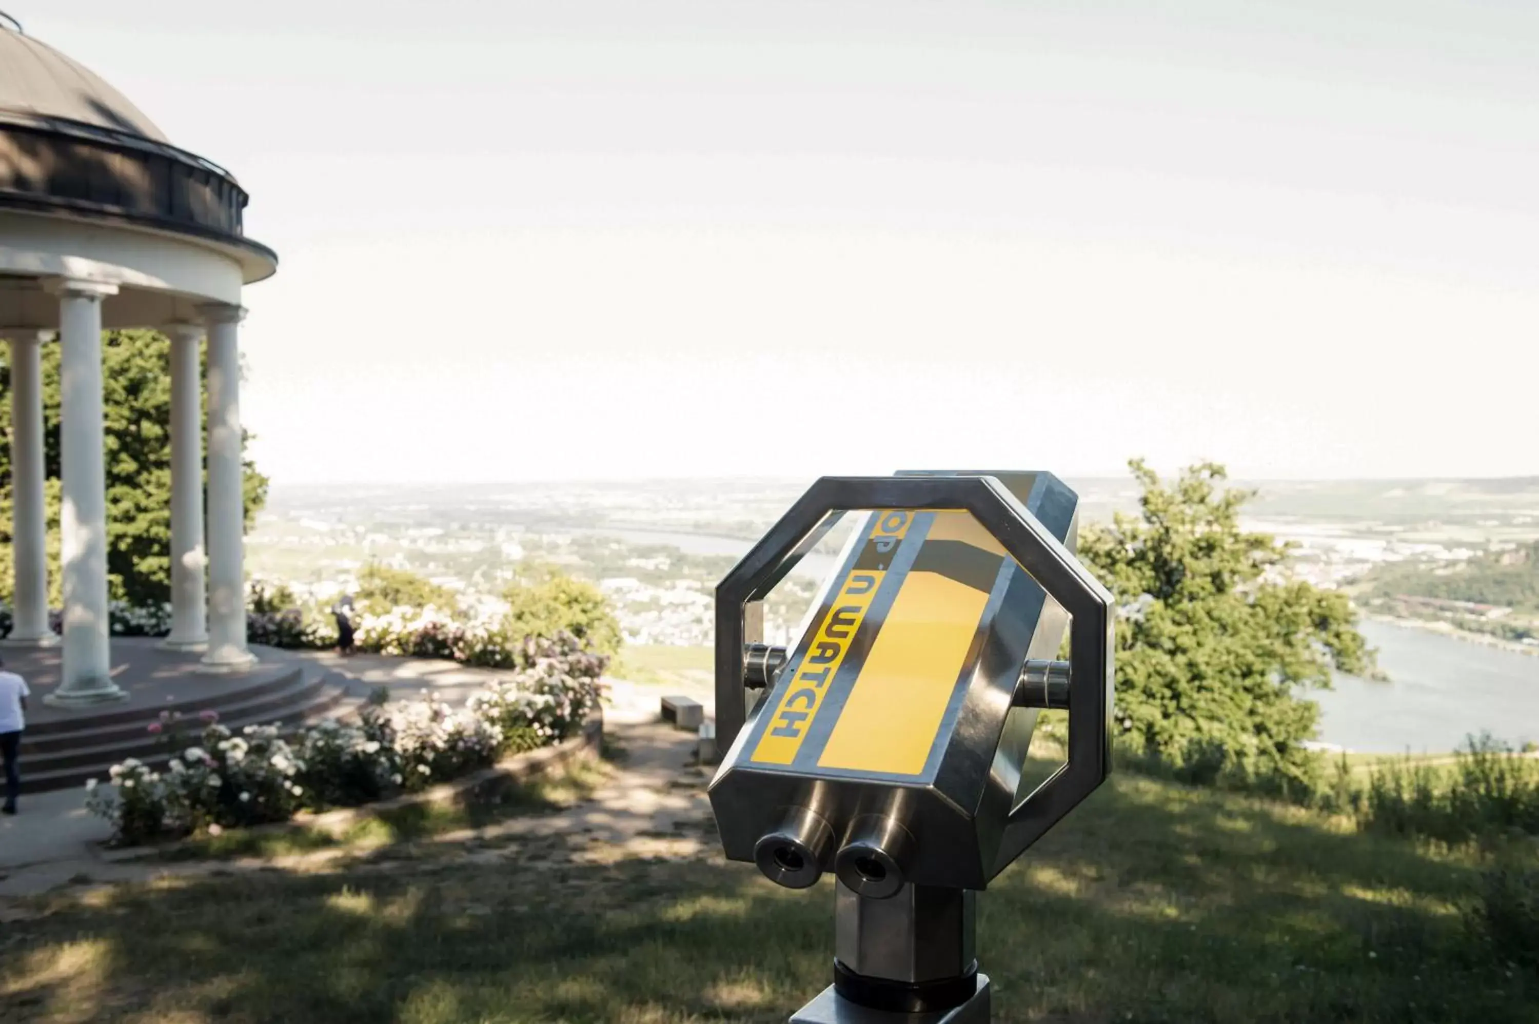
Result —
<path fill-rule="evenodd" d="M 6 645 L 51 647 L 48 522 L 43 513 L 43 360 L 52 331 L 6 331 L 11 342 L 11 537 L 15 588 Z"/>

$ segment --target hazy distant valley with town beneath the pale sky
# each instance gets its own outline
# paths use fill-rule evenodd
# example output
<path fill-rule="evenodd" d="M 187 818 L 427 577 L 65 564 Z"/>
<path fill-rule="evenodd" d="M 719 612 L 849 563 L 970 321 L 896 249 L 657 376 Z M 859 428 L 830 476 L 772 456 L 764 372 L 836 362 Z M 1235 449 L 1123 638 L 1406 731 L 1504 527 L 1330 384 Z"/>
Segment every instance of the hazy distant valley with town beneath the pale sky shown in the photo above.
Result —
<path fill-rule="evenodd" d="M 1137 508 L 1131 480 L 1070 482 L 1082 496 L 1082 522 Z M 551 567 L 599 584 L 626 642 L 697 647 L 711 642 L 716 582 L 805 485 L 274 485 L 246 559 L 254 577 L 319 601 L 351 588 L 371 561 L 408 568 L 486 613 L 499 610 L 509 582 Z M 1288 571 L 1299 579 L 1347 588 L 1370 614 L 1539 648 L 1539 608 L 1430 596 L 1407 584 L 1482 559 L 1499 564 L 1504 553 L 1508 562 L 1524 556 L 1539 540 L 1539 480 L 1245 487 L 1259 494 L 1244 525 L 1291 542 Z M 771 642 L 791 639 L 846 536 L 842 524 L 776 590 L 765 616 Z"/>

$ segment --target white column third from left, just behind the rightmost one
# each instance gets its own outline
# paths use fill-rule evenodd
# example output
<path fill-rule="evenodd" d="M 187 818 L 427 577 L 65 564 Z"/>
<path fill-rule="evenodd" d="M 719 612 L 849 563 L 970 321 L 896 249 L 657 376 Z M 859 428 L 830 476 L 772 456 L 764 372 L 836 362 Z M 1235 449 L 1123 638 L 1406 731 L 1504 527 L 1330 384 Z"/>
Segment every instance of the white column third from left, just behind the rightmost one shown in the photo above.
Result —
<path fill-rule="evenodd" d="M 162 647 L 203 650 L 203 379 L 200 323 L 171 323 L 171 636 Z"/>

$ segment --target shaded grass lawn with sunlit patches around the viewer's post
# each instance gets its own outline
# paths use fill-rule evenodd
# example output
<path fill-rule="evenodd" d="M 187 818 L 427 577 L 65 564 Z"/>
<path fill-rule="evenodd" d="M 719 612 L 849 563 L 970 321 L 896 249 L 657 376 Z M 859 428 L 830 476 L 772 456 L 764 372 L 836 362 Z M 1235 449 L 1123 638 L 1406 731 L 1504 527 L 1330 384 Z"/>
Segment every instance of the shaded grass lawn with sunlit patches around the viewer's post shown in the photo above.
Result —
<path fill-rule="evenodd" d="M 546 853 L 48 896 L 0 930 L 0 1019 L 771 1022 L 828 981 L 826 879 Z M 1539 1021 L 1534 967 L 1465 924 L 1477 873 L 1120 775 L 979 899 L 979 955 L 996 1021 Z"/>

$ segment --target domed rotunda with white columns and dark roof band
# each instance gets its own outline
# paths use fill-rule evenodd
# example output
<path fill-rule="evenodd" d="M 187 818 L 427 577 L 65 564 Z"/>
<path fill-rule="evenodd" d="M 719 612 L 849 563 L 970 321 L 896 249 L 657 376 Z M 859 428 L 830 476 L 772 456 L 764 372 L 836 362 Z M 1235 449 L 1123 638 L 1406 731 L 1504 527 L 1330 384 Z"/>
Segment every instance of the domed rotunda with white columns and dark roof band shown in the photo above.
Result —
<path fill-rule="evenodd" d="M 242 289 L 277 269 L 242 229 L 229 171 L 179 149 L 122 92 L 0 20 L 0 336 L 9 345 L 14 625 L 6 644 L 58 642 L 48 622 L 40 346 L 60 346 L 62 707 L 114 701 L 102 330 L 171 337 L 174 622 L 166 645 L 245 670 Z M 208 547 L 199 348 L 208 340 Z M 205 585 L 206 571 L 206 585 Z"/>

